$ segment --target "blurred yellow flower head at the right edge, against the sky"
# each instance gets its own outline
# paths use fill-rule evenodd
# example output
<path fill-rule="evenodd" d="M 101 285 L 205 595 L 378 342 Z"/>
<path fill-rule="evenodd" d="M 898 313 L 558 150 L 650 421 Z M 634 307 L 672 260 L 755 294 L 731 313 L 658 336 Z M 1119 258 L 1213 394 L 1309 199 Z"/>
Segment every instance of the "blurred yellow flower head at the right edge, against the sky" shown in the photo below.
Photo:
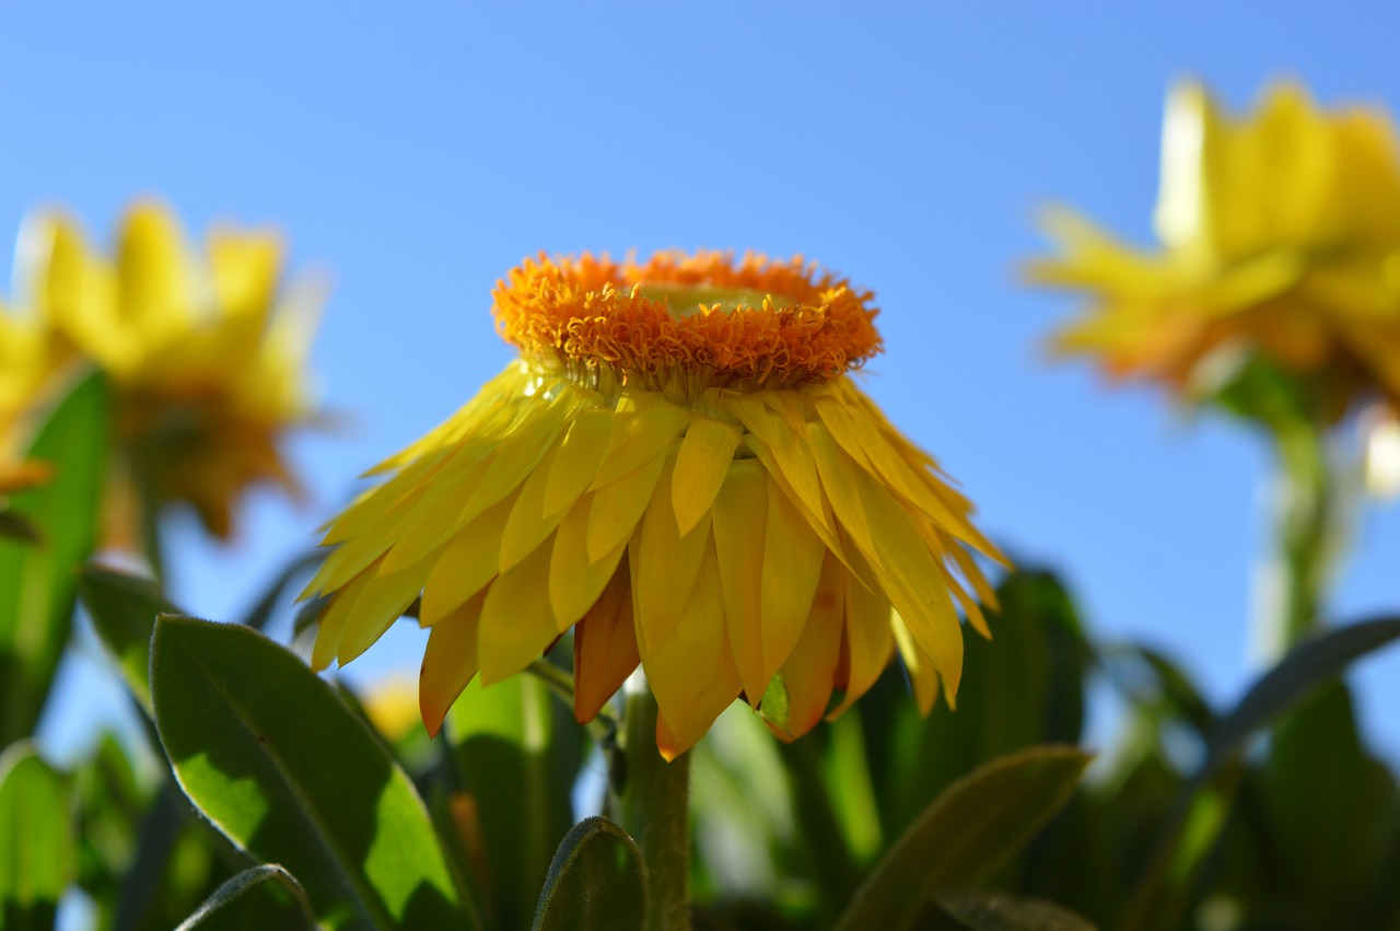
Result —
<path fill-rule="evenodd" d="M 1113 377 L 1190 391 L 1219 350 L 1316 377 L 1329 417 L 1400 399 L 1400 153 L 1380 111 L 1319 111 L 1291 84 L 1253 116 L 1197 84 L 1169 95 L 1155 217 L 1162 249 L 1127 248 L 1065 210 L 1063 258 L 1037 280 L 1093 304 L 1057 337 Z"/>

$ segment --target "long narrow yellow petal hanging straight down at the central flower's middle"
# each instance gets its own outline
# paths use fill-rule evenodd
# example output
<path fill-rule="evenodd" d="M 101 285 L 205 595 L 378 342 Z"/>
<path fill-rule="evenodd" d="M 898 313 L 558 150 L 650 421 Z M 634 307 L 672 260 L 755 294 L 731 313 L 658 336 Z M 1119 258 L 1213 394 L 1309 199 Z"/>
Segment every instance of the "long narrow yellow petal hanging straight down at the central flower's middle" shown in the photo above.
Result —
<path fill-rule="evenodd" d="M 745 697 L 757 707 L 769 685 L 763 672 L 762 599 L 769 473 L 757 459 L 736 459 L 729 465 L 713 511 L 729 648 Z"/>

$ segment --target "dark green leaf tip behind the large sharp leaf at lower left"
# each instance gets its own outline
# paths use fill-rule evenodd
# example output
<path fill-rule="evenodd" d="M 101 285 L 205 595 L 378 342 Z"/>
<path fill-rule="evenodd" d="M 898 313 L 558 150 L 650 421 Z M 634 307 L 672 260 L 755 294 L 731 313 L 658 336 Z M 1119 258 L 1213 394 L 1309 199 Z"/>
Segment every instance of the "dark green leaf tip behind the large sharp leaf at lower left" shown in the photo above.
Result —
<path fill-rule="evenodd" d="M 157 615 L 175 613 L 150 578 L 84 566 L 78 598 L 92 619 L 98 638 L 116 659 L 122 680 L 146 711 L 151 711 L 151 630 Z"/>

